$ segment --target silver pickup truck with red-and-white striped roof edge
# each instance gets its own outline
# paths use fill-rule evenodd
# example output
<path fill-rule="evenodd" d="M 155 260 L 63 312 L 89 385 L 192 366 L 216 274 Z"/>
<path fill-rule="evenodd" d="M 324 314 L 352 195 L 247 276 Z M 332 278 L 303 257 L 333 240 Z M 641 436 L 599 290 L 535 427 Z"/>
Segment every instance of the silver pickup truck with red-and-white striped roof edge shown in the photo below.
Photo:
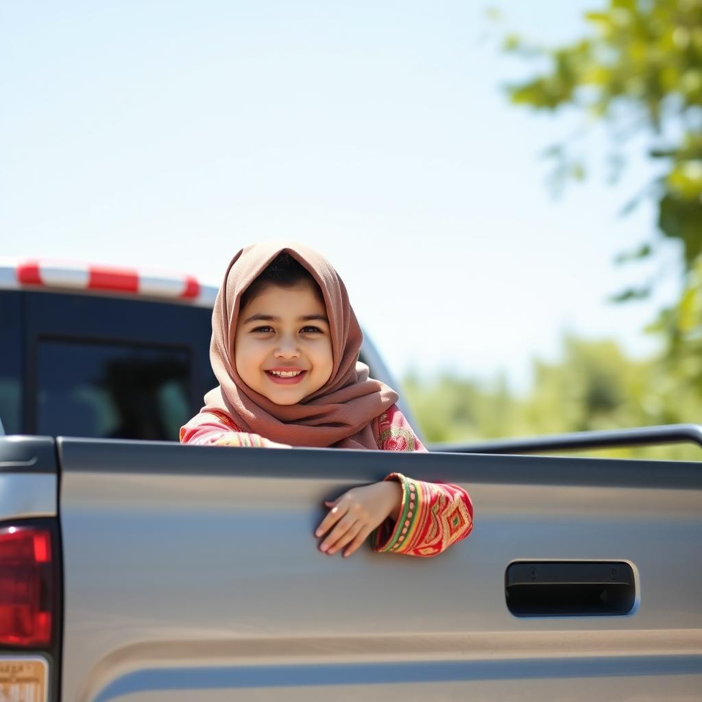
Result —
<path fill-rule="evenodd" d="M 0 267 L 0 701 L 702 699 L 698 463 L 180 446 L 213 293 Z M 465 486 L 472 535 L 319 552 L 324 499 L 393 471 Z"/>

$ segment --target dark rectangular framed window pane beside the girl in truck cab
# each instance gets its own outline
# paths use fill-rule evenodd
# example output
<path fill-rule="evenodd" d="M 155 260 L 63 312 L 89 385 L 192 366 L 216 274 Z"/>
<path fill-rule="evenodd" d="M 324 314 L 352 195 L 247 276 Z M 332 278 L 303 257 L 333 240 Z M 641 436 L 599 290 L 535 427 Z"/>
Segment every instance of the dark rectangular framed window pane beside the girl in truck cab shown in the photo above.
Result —
<path fill-rule="evenodd" d="M 190 419 L 187 349 L 40 339 L 39 434 L 178 440 Z"/>

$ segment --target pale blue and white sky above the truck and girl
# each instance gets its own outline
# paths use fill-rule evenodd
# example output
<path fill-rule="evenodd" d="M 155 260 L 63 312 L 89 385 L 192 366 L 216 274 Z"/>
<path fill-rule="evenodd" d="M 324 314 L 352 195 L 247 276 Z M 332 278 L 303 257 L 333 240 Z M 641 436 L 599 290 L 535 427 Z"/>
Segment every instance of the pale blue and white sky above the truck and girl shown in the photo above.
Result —
<path fill-rule="evenodd" d="M 490 5 L 561 42 L 599 4 Z M 553 199 L 538 154 L 577 122 L 508 105 L 529 67 L 498 51 L 487 6 L 0 5 L 0 253 L 218 284 L 242 245 L 289 237 L 336 265 L 398 373 L 524 385 L 564 331 L 646 354 L 675 286 L 607 297 L 650 273 L 612 263 L 653 231 L 650 206 L 618 217 L 647 166 Z"/>

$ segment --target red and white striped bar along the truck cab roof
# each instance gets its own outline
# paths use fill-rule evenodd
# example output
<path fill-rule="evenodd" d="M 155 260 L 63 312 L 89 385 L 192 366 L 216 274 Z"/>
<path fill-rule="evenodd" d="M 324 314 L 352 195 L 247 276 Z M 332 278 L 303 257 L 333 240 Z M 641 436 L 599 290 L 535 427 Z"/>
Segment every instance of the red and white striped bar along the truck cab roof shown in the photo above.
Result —
<path fill-rule="evenodd" d="M 48 260 L 0 260 L 0 289 L 53 289 L 166 298 L 211 307 L 213 286 L 192 276 Z"/>

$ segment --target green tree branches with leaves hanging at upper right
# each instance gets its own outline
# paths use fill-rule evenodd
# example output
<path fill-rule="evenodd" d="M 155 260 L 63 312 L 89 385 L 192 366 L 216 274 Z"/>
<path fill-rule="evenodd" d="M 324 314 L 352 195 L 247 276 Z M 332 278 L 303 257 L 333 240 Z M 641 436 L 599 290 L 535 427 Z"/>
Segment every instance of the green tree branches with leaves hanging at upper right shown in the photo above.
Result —
<path fill-rule="evenodd" d="M 618 260 L 655 256 L 666 238 L 679 242 L 682 296 L 651 329 L 664 335 L 675 379 L 702 397 L 702 0 L 608 0 L 603 9 L 585 13 L 585 20 L 587 36 L 568 46 L 544 48 L 515 34 L 505 37 L 505 51 L 548 67 L 508 87 L 508 93 L 515 105 L 547 112 L 568 107 L 583 115 L 576 137 L 546 152 L 555 161 L 556 185 L 585 177 L 588 164 L 574 156 L 574 143 L 597 125 L 611 135 L 609 164 L 615 178 L 625 167 L 633 137 L 643 138 L 647 156 L 661 166 L 661 175 L 623 212 L 654 198 L 663 236 L 643 241 Z M 644 282 L 614 299 L 641 299 L 650 289 L 651 283 Z"/>

